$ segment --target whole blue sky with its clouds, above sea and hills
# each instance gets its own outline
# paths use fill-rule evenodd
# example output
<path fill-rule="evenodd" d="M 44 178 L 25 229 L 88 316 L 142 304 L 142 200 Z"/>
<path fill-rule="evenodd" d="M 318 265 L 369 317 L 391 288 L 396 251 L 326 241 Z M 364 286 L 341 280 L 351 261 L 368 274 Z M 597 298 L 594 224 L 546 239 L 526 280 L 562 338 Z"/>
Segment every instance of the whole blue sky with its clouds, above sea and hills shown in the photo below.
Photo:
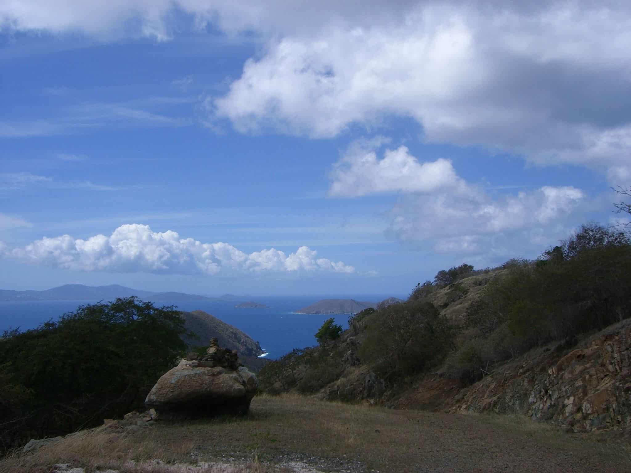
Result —
<path fill-rule="evenodd" d="M 401 294 L 537 257 L 619 223 L 628 31 L 614 1 L 0 3 L 0 288 Z"/>

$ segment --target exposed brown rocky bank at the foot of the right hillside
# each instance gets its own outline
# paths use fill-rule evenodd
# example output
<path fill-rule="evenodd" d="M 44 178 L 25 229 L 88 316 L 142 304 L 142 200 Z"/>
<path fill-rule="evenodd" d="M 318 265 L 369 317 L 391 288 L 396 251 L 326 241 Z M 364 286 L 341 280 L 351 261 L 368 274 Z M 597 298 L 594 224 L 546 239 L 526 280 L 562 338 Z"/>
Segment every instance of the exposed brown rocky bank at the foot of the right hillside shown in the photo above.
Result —
<path fill-rule="evenodd" d="M 541 349 L 463 390 L 451 412 L 526 414 L 571 431 L 631 429 L 631 320 L 570 353 Z"/>

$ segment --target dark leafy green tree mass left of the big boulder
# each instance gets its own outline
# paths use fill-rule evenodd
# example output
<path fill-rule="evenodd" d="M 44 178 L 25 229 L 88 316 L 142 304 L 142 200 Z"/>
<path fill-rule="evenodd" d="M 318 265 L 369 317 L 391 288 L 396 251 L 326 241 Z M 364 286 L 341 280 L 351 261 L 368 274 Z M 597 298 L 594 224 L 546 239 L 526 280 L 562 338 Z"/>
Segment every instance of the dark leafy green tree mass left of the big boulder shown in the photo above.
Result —
<path fill-rule="evenodd" d="M 130 297 L 79 307 L 58 322 L 5 332 L 0 341 L 0 409 L 6 443 L 61 435 L 143 405 L 153 383 L 184 353 L 184 319 L 174 307 Z M 7 388 L 8 387 L 8 388 Z M 19 402 L 9 405 L 8 396 Z M 15 420 L 15 419 L 14 419 Z M 4 424 L 3 424 L 4 425 Z"/>

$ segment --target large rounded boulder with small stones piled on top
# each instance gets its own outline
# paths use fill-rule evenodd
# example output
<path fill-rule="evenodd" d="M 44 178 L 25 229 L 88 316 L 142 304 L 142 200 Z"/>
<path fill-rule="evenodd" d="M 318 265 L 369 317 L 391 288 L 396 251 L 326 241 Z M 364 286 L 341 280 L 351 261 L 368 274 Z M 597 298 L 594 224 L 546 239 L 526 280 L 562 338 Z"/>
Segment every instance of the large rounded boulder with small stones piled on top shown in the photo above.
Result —
<path fill-rule="evenodd" d="M 160 419 L 247 414 L 258 387 L 254 373 L 239 363 L 237 352 L 211 339 L 207 354 L 190 354 L 167 371 L 144 404 Z"/>

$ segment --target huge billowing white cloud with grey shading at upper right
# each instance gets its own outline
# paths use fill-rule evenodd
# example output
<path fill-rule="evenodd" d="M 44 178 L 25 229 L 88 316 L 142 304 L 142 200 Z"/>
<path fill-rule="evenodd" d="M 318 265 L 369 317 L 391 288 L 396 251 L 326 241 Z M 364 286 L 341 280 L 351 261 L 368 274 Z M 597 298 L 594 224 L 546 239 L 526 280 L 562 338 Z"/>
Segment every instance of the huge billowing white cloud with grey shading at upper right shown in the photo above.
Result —
<path fill-rule="evenodd" d="M 333 137 L 411 117 L 433 143 L 631 175 L 631 7 L 418 3 L 399 22 L 331 23 L 244 65 L 215 117 Z"/>

